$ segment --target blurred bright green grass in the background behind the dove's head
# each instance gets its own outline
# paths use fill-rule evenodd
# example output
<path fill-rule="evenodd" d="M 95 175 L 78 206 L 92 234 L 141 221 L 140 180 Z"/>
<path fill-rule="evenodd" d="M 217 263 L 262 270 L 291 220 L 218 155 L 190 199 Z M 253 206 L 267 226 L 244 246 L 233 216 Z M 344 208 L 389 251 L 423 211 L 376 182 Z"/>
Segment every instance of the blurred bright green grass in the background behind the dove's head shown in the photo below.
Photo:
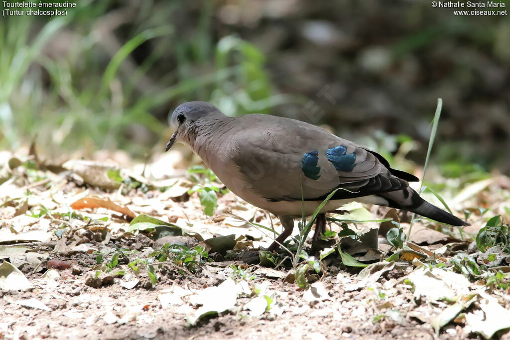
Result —
<path fill-rule="evenodd" d="M 234 115 L 268 112 L 289 100 L 271 95 L 256 46 L 235 36 L 212 43 L 210 2 L 202 2 L 191 37 L 177 32 L 168 18 L 179 15 L 182 4 L 88 1 L 65 18 L 3 20 L 0 147 L 37 139 L 57 151 L 86 146 L 141 155 L 162 135 L 164 114 L 155 111 L 168 112 L 169 103 L 207 100 Z M 130 29 L 115 31 L 127 23 Z M 139 56 L 143 60 L 134 62 Z M 169 59 L 174 65 L 159 73 Z M 140 132 L 148 137 L 137 143 Z"/>

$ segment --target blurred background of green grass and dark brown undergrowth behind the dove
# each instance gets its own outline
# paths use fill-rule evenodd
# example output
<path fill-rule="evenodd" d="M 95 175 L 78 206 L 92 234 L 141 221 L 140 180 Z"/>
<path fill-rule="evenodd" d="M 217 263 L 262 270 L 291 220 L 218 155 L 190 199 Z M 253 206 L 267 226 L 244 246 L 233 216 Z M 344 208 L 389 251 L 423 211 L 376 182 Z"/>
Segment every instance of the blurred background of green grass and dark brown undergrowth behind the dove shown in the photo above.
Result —
<path fill-rule="evenodd" d="M 441 97 L 442 172 L 510 173 L 508 16 L 411 0 L 84 0 L 67 11 L 0 21 L 0 148 L 145 156 L 163 151 L 169 111 L 206 100 L 228 115 L 327 124 L 423 163 Z"/>

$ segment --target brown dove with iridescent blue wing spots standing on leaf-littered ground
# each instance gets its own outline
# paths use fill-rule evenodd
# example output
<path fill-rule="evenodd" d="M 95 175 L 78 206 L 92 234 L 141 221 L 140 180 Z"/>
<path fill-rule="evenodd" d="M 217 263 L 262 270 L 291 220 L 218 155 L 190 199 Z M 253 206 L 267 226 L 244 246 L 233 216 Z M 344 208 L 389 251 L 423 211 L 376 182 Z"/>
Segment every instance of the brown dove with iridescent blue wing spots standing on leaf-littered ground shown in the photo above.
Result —
<path fill-rule="evenodd" d="M 391 168 L 380 154 L 299 120 L 265 114 L 229 117 L 213 104 L 181 104 L 170 119 L 176 142 L 193 149 L 241 199 L 277 216 L 283 231 L 274 251 L 290 236 L 294 219 L 316 217 L 315 244 L 326 230 L 325 213 L 357 201 L 410 211 L 454 225 L 467 222 L 425 201 L 409 186 L 419 179 Z"/>

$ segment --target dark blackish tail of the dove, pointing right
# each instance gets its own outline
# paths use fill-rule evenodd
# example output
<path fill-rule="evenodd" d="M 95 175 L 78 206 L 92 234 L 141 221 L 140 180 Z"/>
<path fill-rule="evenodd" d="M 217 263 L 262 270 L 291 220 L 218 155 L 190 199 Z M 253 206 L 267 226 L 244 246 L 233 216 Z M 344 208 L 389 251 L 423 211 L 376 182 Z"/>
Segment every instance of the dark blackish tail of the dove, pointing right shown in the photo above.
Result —
<path fill-rule="evenodd" d="M 460 218 L 457 218 L 441 208 L 425 201 L 411 187 L 379 194 L 379 196 L 385 198 L 388 201 L 388 206 L 393 208 L 407 210 L 429 219 L 458 227 L 470 225 Z"/>

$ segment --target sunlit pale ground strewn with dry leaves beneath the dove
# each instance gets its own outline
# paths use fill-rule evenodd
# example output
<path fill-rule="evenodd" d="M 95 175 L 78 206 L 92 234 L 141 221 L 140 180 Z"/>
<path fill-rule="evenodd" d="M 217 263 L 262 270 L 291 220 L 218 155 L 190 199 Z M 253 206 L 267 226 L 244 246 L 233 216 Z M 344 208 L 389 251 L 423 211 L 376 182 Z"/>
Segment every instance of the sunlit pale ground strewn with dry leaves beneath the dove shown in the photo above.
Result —
<path fill-rule="evenodd" d="M 482 261 L 469 241 L 486 221 L 480 212 L 461 232 L 415 223 L 411 241 L 423 256 L 400 253 L 396 261 L 386 261 L 395 249 L 381 236 L 375 236 L 376 249 L 347 247 L 354 258 L 374 264 L 366 269 L 345 266 L 337 251 L 322 261 L 319 273 L 305 271 L 308 287 L 303 290 L 294 281 L 298 274 L 290 260 L 276 269 L 253 260 L 253 249 L 267 247 L 272 236 L 252 223 L 273 225 L 276 231 L 281 226 L 232 193 L 220 193 L 216 213 L 209 217 L 199 194 L 187 193 L 195 184 L 184 173 L 158 179 L 154 170 L 156 179 L 132 175 L 131 182 L 105 189 L 112 175 L 105 176 L 111 167 L 103 159 L 67 164 L 67 169 L 7 153 L 0 160 L 6 161 L 0 182 L 0 338 L 510 339 L 510 290 L 449 265 L 460 253 Z M 121 170 L 140 173 L 140 166 L 116 161 L 123 164 Z M 168 162 L 167 173 L 174 173 L 181 160 L 158 160 L 145 171 L 160 169 L 162 162 Z M 135 185 L 133 178 L 139 180 Z M 478 184 L 482 188 L 466 198 L 464 207 L 475 211 L 486 200 L 494 214 L 504 213 L 508 183 L 497 177 Z M 162 192 L 160 187 L 169 188 Z M 88 205 L 78 208 L 76 202 L 84 199 Z M 366 214 L 362 208 L 354 210 Z M 154 255 L 162 247 L 160 229 L 129 231 L 133 218 L 143 214 L 185 230 L 164 240 L 189 249 L 206 240 L 201 245 L 209 249 L 209 258 L 193 253 L 196 264 L 186 266 L 177 255 Z M 386 211 L 372 208 L 371 214 L 382 218 Z M 408 217 L 399 218 L 401 226 L 409 226 Z M 379 227 L 384 225 L 349 225 L 360 233 Z M 215 252 L 207 241 L 231 234 L 230 250 Z M 507 272 L 506 260 L 501 257 L 499 268 Z M 438 265 L 442 262 L 444 268 Z"/>

